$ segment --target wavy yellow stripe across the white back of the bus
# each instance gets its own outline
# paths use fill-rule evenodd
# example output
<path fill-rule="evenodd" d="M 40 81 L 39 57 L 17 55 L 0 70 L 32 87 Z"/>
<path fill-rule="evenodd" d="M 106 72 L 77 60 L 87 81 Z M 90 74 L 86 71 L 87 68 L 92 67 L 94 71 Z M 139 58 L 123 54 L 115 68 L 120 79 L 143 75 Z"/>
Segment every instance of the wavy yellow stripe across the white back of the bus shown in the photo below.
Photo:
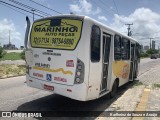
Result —
<path fill-rule="evenodd" d="M 41 67 L 34 66 L 33 69 L 42 70 L 42 71 L 46 71 L 46 72 L 62 72 L 63 74 L 70 74 L 70 75 L 73 74 L 71 71 L 64 71 L 63 68 L 58 68 L 58 69 L 54 70 L 54 69 L 41 68 Z"/>

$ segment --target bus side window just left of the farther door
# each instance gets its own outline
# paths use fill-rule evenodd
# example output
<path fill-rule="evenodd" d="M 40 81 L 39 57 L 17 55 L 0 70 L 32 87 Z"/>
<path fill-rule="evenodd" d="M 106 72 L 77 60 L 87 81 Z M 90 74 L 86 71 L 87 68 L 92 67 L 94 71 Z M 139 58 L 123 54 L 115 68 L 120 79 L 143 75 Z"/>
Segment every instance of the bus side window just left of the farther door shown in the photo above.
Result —
<path fill-rule="evenodd" d="M 121 52 L 122 52 L 122 60 L 130 59 L 130 41 L 126 38 L 122 38 Z"/>

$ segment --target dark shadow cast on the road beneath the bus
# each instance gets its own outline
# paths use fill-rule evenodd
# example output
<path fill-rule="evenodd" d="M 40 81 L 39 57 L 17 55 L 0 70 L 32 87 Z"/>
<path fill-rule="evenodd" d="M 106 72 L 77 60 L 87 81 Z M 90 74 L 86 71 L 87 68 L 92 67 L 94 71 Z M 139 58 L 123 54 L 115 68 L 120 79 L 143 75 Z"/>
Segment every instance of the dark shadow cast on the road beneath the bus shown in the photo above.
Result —
<path fill-rule="evenodd" d="M 95 119 L 98 117 L 101 113 L 103 113 L 106 109 L 109 109 L 108 111 L 112 111 L 111 104 L 114 103 L 121 95 L 123 95 L 129 88 L 133 87 L 134 84 L 136 84 L 138 81 L 135 82 L 129 82 L 122 87 L 118 89 L 117 95 L 114 98 L 110 98 L 109 94 L 91 101 L 81 102 L 77 100 L 73 100 L 67 97 L 63 97 L 60 95 L 49 95 L 45 96 L 39 99 L 35 99 L 33 101 L 24 103 L 20 105 L 16 111 L 62 111 L 62 115 L 59 115 L 61 119 L 66 119 L 63 113 L 64 111 L 67 113 L 67 111 L 73 111 L 73 114 L 75 111 L 80 112 L 87 112 L 85 113 L 86 117 L 91 117 L 92 119 Z M 60 112 L 59 112 L 60 113 Z M 91 113 L 96 113 L 93 116 L 90 116 Z M 79 116 L 82 117 L 82 116 Z M 74 117 L 72 117 L 75 119 Z M 72 119 L 69 118 L 69 119 Z M 37 118 L 39 120 L 42 120 L 42 118 Z M 79 119 L 76 117 L 76 119 Z M 89 119 L 89 118 L 87 118 Z M 44 118 L 43 118 L 44 120 Z M 47 120 L 50 120 L 50 118 L 47 118 Z"/>

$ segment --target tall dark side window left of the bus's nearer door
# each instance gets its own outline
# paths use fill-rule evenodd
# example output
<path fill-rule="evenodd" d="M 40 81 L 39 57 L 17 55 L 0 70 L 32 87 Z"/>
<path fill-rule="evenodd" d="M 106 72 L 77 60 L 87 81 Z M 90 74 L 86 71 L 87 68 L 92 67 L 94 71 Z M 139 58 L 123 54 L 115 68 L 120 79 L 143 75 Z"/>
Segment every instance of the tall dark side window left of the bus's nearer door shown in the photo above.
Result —
<path fill-rule="evenodd" d="M 96 25 L 92 26 L 91 33 L 91 61 L 99 62 L 100 60 L 100 28 Z"/>

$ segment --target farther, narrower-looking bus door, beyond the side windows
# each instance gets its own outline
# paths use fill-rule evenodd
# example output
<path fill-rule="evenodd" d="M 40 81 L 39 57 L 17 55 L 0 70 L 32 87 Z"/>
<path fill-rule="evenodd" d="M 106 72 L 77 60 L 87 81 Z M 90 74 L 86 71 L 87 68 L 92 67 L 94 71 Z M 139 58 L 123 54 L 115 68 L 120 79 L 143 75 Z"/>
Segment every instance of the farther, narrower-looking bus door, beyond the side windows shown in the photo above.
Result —
<path fill-rule="evenodd" d="M 134 77 L 134 71 L 135 71 L 135 44 L 131 43 L 131 62 L 130 62 L 130 74 L 129 74 L 129 80 L 133 81 Z"/>

